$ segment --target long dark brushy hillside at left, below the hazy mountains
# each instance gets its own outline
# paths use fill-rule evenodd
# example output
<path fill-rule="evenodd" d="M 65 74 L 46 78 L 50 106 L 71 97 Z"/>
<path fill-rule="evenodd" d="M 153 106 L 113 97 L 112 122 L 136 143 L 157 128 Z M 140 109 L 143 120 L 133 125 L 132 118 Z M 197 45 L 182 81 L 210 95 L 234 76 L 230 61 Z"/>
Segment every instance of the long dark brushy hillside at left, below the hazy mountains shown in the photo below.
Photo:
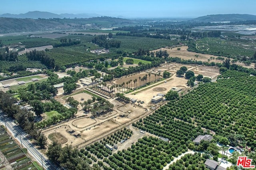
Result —
<path fill-rule="evenodd" d="M 76 19 L 0 18 L 0 34 L 28 31 L 61 31 L 69 29 L 100 29 L 132 24 L 132 20 L 113 17 Z"/>

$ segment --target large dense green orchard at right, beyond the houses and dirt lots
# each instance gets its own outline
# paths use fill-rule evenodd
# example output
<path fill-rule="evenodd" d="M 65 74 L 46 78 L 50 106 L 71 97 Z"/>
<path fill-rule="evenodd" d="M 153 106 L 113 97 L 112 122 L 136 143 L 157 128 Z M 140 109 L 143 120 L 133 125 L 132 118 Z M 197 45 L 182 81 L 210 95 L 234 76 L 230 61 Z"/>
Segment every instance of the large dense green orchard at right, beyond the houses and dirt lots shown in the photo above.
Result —
<path fill-rule="evenodd" d="M 200 84 L 182 99 L 166 104 L 164 110 L 217 135 L 241 134 L 246 145 L 256 146 L 255 83 L 254 76 L 227 71 L 219 76 L 217 83 Z"/>

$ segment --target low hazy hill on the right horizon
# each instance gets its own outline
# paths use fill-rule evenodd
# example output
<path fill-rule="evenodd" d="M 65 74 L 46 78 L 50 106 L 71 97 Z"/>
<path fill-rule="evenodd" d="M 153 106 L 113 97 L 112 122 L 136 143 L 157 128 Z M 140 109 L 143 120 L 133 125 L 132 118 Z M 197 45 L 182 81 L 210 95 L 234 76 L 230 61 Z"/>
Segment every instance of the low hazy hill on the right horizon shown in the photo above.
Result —
<path fill-rule="evenodd" d="M 207 15 L 193 19 L 193 21 L 202 22 L 223 22 L 223 21 L 246 21 L 246 20 L 256 20 L 255 15 L 250 14 L 217 14 L 217 15 Z"/>

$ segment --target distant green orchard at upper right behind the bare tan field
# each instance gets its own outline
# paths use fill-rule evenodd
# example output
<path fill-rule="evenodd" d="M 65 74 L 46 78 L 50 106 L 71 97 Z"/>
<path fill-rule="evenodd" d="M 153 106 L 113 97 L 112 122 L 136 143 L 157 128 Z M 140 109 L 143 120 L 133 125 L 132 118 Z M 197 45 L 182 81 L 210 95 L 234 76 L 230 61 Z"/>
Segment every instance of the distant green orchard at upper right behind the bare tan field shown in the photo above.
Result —
<path fill-rule="evenodd" d="M 255 52 L 255 41 L 242 41 L 240 39 L 202 38 L 196 40 L 196 49 L 200 53 L 224 57 L 248 56 Z"/>

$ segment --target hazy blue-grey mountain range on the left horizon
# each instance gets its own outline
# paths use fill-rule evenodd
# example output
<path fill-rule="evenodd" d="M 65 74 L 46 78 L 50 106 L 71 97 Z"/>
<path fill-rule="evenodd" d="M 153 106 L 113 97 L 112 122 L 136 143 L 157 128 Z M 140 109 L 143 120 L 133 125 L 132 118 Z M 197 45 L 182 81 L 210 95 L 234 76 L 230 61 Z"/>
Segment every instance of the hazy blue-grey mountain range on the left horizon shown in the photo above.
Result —
<path fill-rule="evenodd" d="M 91 18 L 100 16 L 98 14 L 54 14 L 51 12 L 40 12 L 40 11 L 32 11 L 27 12 L 25 14 L 2 14 L 0 17 L 3 18 L 31 18 L 31 19 L 38 19 L 38 18 Z"/>

